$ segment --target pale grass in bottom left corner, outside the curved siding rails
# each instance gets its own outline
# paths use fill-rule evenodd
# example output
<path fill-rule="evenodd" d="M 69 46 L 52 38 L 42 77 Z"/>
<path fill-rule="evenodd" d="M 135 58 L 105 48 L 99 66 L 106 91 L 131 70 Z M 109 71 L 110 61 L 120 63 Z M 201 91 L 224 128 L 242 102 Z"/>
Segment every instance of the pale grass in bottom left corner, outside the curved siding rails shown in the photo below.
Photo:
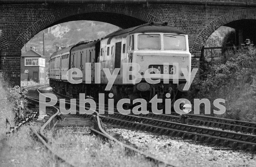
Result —
<path fill-rule="evenodd" d="M 19 131 L 12 133 L 0 140 L 0 163 L 1 166 L 13 167 L 48 167 L 65 166 L 56 161 L 52 154 L 46 150 L 40 142 L 34 140 L 30 134 L 30 125 L 22 126 Z M 39 126 L 33 126 L 39 129 Z"/>

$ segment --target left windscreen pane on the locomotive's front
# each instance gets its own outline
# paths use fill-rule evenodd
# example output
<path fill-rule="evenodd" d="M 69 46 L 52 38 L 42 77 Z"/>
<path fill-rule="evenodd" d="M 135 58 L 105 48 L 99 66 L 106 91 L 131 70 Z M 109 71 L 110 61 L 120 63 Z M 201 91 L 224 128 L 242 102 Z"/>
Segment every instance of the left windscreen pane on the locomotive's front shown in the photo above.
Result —
<path fill-rule="evenodd" d="M 159 34 L 141 34 L 138 35 L 138 49 L 160 50 Z"/>

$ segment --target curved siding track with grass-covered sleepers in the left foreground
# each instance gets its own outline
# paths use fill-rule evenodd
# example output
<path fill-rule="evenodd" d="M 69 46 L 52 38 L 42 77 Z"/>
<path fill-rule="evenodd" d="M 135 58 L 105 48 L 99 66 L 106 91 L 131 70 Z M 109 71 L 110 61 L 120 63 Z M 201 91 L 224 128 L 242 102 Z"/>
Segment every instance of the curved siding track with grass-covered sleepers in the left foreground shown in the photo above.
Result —
<path fill-rule="evenodd" d="M 37 89 L 38 92 L 40 92 L 39 89 L 40 88 Z M 58 94 L 58 95 L 61 96 L 60 94 Z M 30 99 L 31 101 L 34 101 L 35 103 L 36 102 L 38 103 L 37 97 L 29 97 L 28 96 L 27 98 Z M 126 143 L 124 143 L 122 138 L 120 138 L 118 135 L 115 137 L 109 135 L 105 131 L 105 127 L 103 127 L 103 125 L 101 123 L 98 112 L 96 112 L 92 115 L 87 115 L 87 114 L 81 115 L 81 114 L 79 114 L 79 112 L 76 112 L 75 115 L 65 115 L 65 118 L 64 118 L 64 115 L 62 115 L 59 112 L 58 107 L 52 107 L 52 108 L 54 110 L 56 110 L 56 113 L 54 115 L 52 115 L 48 119 L 48 121 L 41 127 L 40 133 L 37 133 L 35 131 L 33 131 L 33 133 L 45 145 L 45 147 L 48 148 L 48 150 L 50 150 L 50 152 L 52 152 L 57 157 L 57 159 L 59 159 L 63 162 L 66 162 L 68 164 L 68 166 L 74 166 L 74 165 L 70 164 L 67 160 L 63 159 L 60 155 L 57 155 L 51 149 L 51 147 L 48 145 L 48 139 L 47 139 L 47 137 L 45 137 L 44 133 L 46 131 L 48 131 L 49 129 L 53 129 L 53 131 L 55 133 L 55 132 L 58 132 L 60 129 L 63 129 L 64 127 L 70 127 L 70 128 L 72 128 L 72 130 L 74 130 L 76 132 L 83 133 L 81 131 L 81 129 L 83 127 L 90 127 L 91 133 L 97 134 L 107 140 L 117 142 L 119 145 L 122 145 L 126 150 L 129 150 L 130 152 L 136 152 L 141 155 L 144 155 L 147 159 L 150 159 L 150 161 L 153 162 L 157 166 L 158 165 L 173 166 L 173 165 L 169 164 L 168 162 L 165 162 L 164 160 L 155 158 L 152 155 L 145 154 L 143 151 L 140 151 L 140 150 L 134 148 L 134 145 L 132 145 L 132 146 L 131 146 L 131 144 L 127 145 L 127 141 L 125 141 Z"/>

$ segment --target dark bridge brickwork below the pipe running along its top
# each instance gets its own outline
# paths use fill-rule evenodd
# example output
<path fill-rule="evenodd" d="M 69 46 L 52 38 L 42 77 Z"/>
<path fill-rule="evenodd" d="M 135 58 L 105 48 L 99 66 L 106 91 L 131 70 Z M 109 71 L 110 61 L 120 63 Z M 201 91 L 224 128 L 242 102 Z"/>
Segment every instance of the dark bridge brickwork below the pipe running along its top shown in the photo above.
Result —
<path fill-rule="evenodd" d="M 34 35 L 52 25 L 74 20 L 108 22 L 122 28 L 151 21 L 169 22 L 189 35 L 190 52 L 196 58 L 212 32 L 235 20 L 256 19 L 255 11 L 246 7 L 165 4 L 0 5 L 1 68 L 9 76 L 13 71 L 19 72 L 20 50 Z M 17 62 L 11 63 L 14 60 Z M 18 78 L 12 80 L 18 84 Z"/>

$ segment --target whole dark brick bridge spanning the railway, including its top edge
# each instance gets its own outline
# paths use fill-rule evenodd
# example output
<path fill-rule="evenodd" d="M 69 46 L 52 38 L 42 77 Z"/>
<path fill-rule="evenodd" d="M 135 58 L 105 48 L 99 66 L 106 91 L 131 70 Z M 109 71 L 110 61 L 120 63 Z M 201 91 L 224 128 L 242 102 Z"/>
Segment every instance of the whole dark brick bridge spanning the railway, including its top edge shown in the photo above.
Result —
<path fill-rule="evenodd" d="M 76 20 L 121 28 L 168 22 L 188 33 L 195 68 L 201 47 L 220 26 L 235 28 L 239 42 L 255 34 L 255 7 L 243 0 L 0 0 L 0 68 L 20 85 L 21 48 L 41 30 Z"/>

